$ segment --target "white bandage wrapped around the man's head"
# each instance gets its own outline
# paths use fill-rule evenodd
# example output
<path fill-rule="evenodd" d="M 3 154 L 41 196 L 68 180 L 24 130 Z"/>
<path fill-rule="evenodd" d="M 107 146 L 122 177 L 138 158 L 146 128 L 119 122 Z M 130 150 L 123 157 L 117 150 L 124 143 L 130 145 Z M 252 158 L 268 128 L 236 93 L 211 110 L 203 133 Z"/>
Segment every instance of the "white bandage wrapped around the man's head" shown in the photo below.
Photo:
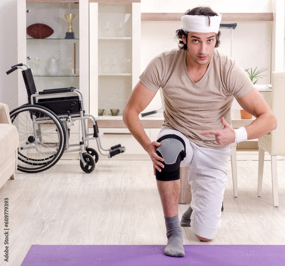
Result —
<path fill-rule="evenodd" d="M 181 18 L 182 26 L 180 29 L 185 32 L 198 32 L 198 33 L 218 33 L 222 16 L 218 13 L 217 16 L 209 17 L 200 15 L 184 15 Z"/>

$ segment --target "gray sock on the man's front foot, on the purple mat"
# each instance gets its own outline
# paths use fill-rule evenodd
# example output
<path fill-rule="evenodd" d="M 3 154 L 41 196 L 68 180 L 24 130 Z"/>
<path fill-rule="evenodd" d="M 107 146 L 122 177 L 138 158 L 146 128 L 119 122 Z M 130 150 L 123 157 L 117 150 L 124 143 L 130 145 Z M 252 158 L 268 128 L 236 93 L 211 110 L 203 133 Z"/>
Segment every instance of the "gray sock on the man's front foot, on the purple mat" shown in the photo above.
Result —
<path fill-rule="evenodd" d="M 174 217 L 164 217 L 166 225 L 167 246 L 164 254 L 171 257 L 184 257 L 182 229 L 178 214 Z"/>

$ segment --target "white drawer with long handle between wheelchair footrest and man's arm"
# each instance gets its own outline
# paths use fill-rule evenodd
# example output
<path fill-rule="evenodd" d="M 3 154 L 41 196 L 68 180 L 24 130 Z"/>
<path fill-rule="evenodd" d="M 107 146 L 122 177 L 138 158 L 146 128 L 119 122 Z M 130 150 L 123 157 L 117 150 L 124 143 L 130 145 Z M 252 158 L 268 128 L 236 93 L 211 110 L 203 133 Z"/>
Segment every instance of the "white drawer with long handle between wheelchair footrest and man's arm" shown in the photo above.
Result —
<path fill-rule="evenodd" d="M 150 137 L 150 129 L 144 129 L 146 135 Z M 104 148 L 109 148 L 117 144 L 126 147 L 124 154 L 147 154 L 139 142 L 125 128 L 99 128 L 101 144 Z M 91 141 L 90 141 L 91 143 Z M 90 146 L 91 147 L 91 146 Z"/>

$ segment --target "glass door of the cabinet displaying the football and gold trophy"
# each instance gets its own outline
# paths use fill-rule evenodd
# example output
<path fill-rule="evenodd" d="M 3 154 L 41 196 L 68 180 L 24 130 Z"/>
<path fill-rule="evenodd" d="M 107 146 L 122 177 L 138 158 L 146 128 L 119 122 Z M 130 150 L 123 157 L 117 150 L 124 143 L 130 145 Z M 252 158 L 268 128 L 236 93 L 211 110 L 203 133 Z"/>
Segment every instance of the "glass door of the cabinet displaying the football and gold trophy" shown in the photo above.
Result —
<path fill-rule="evenodd" d="M 61 13 L 77 16 L 79 4 L 28 2 L 27 9 L 30 10 L 26 15 L 30 29 L 27 31 L 27 64 L 32 70 L 37 91 L 70 86 L 79 88 L 79 19 L 72 22 L 74 38 L 67 39 L 68 23 L 61 17 Z M 52 34 L 41 37 L 46 33 L 45 27 L 49 27 L 49 34 Z"/>

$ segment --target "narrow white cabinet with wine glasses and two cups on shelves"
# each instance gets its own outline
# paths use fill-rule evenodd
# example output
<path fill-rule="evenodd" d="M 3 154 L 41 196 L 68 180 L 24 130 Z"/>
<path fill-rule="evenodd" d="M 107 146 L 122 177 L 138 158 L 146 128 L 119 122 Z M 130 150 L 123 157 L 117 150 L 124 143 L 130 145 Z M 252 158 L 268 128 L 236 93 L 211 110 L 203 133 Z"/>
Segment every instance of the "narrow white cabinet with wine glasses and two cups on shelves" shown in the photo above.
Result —
<path fill-rule="evenodd" d="M 140 3 L 89 3 L 90 112 L 98 119 L 122 119 L 139 81 L 140 18 Z"/>

